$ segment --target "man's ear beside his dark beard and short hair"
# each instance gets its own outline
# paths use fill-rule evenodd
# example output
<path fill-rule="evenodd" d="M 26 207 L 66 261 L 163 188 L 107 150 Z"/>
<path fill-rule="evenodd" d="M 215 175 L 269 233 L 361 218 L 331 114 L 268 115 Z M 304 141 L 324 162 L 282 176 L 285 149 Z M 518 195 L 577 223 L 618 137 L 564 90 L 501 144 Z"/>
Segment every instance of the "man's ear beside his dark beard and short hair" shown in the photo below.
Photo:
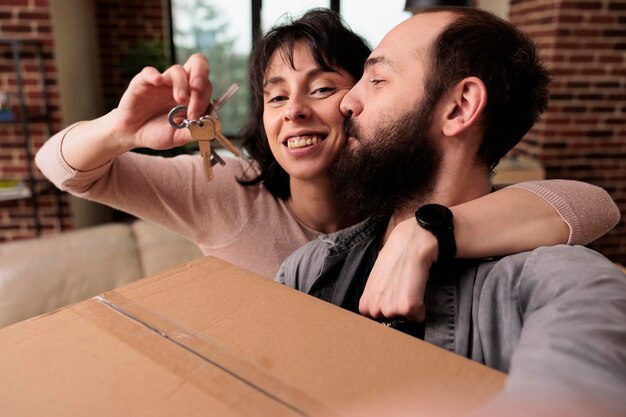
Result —
<path fill-rule="evenodd" d="M 448 93 L 445 104 L 443 133 L 457 136 L 475 125 L 487 104 L 487 87 L 476 77 L 459 81 Z"/>

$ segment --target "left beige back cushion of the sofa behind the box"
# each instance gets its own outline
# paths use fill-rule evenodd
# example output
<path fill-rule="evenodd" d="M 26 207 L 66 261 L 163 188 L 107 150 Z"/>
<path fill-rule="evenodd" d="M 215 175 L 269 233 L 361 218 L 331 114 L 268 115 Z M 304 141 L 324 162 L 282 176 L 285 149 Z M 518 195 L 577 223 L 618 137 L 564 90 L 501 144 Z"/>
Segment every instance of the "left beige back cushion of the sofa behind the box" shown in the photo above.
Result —
<path fill-rule="evenodd" d="M 0 327 L 143 276 L 133 232 L 106 224 L 0 245 Z"/>

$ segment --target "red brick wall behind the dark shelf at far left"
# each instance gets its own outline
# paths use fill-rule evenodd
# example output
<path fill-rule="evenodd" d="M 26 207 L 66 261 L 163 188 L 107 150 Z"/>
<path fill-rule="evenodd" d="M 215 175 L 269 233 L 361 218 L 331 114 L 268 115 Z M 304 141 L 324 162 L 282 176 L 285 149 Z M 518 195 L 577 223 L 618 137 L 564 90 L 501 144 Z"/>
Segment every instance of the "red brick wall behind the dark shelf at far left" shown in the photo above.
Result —
<path fill-rule="evenodd" d="M 37 40 L 42 45 L 43 66 L 48 87 L 48 115 L 50 131 L 60 128 L 59 90 L 57 87 L 57 71 L 54 61 L 51 19 L 47 0 L 3 0 L 0 3 L 0 39 Z M 19 71 L 25 85 L 25 98 L 29 117 L 45 113 L 44 96 L 39 63 L 36 59 L 35 47 L 25 45 L 20 48 L 21 65 Z M 0 91 L 11 95 L 11 109 L 17 121 L 21 120 L 19 111 L 19 94 L 14 60 L 10 45 L 0 44 Z M 41 147 L 48 138 L 48 124 L 35 122 L 29 124 L 30 151 Z M 24 143 L 24 129 L 21 123 L 0 124 L 0 178 L 22 179 L 29 177 L 29 167 Z M 41 175 L 34 168 L 38 179 Z M 61 217 L 66 227 L 71 226 L 66 197 L 56 199 L 58 193 L 44 182 L 35 187 L 40 193 L 37 216 L 43 234 L 54 233 L 61 229 L 61 221 L 57 217 L 57 203 L 60 204 Z M 34 204 L 30 199 L 0 201 L 0 241 L 16 240 L 37 235 Z"/>

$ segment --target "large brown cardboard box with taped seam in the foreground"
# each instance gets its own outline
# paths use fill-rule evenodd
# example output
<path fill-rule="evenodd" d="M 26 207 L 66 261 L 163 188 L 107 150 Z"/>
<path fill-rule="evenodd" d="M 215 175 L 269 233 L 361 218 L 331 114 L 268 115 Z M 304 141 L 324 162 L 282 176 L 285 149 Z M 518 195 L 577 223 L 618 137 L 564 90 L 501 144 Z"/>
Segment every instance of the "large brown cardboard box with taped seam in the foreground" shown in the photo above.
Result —
<path fill-rule="evenodd" d="M 415 387 L 458 415 L 505 375 L 206 257 L 0 330 L 2 416 L 348 415 Z"/>

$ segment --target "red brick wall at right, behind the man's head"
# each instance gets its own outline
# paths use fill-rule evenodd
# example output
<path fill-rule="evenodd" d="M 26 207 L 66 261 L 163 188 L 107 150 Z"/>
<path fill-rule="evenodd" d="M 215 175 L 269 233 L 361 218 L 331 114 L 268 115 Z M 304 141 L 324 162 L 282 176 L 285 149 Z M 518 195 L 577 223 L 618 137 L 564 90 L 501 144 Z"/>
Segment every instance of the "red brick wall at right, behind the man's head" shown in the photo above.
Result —
<path fill-rule="evenodd" d="M 514 0 L 510 20 L 554 74 L 548 111 L 515 152 L 548 178 L 598 185 L 626 213 L 626 0 Z M 623 219 L 590 245 L 626 264 Z"/>

